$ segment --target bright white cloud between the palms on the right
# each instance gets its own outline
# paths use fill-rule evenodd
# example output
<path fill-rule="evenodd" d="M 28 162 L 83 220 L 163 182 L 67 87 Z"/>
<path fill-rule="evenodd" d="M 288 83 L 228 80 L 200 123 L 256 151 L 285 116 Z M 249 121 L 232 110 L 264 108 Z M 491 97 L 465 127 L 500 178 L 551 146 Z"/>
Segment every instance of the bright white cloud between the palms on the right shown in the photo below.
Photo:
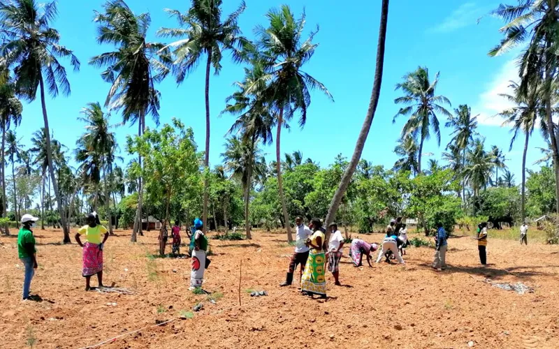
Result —
<path fill-rule="evenodd" d="M 518 68 L 514 59 L 507 61 L 495 74 L 491 82 L 487 84 L 486 90 L 479 95 L 477 105 L 472 107 L 472 110 L 479 112 L 479 117 L 477 117 L 479 124 L 502 126 L 504 119 L 495 115 L 513 106 L 513 103 L 499 96 L 500 94 L 511 94 L 512 91 L 509 87 L 511 80 L 518 82 Z"/>

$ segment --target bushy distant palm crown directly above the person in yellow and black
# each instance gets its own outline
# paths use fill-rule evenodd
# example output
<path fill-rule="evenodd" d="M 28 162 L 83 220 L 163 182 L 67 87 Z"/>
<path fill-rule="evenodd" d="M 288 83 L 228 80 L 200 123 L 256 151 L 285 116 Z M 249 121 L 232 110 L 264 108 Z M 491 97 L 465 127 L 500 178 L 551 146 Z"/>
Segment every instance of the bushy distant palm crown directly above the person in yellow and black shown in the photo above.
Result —
<path fill-rule="evenodd" d="M 491 174 L 495 167 L 495 154 L 485 151 L 484 140 L 476 139 L 466 154 L 467 162 L 464 168 L 464 179 L 470 184 L 474 197 L 479 196 L 481 188 L 491 183 Z"/>

